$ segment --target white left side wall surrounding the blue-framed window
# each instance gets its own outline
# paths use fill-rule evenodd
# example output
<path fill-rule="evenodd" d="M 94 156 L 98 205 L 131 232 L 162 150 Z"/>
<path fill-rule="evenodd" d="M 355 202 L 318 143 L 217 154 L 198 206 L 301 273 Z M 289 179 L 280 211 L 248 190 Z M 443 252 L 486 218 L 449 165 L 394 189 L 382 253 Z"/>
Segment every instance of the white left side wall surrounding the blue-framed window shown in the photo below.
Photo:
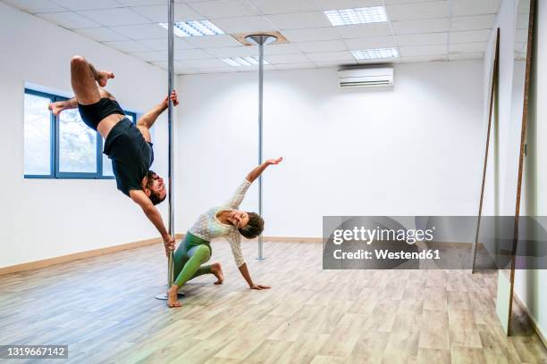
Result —
<path fill-rule="evenodd" d="M 72 93 L 69 62 L 83 54 L 114 71 L 108 90 L 124 107 L 145 112 L 165 94 L 166 72 L 2 3 L 0 49 L 0 267 L 157 236 L 114 180 L 23 178 L 23 88 L 31 82 Z M 164 124 L 158 121 L 158 141 L 166 140 Z M 156 143 L 155 152 L 165 174 L 166 145 Z"/>

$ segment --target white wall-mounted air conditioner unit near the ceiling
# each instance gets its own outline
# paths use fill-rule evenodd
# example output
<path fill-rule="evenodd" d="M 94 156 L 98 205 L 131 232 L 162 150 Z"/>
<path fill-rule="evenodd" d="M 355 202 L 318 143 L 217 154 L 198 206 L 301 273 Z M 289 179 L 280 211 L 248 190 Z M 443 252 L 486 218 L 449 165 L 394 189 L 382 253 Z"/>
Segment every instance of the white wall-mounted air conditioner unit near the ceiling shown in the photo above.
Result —
<path fill-rule="evenodd" d="M 338 70 L 340 87 L 393 86 L 393 67 L 366 67 Z"/>

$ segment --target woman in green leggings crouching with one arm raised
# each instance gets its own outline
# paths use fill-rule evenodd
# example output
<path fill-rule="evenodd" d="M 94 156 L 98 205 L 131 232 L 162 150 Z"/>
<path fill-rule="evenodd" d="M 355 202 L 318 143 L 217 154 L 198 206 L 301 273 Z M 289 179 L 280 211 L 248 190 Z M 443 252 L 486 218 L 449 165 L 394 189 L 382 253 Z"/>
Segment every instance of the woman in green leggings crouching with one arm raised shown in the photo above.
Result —
<path fill-rule="evenodd" d="M 268 160 L 251 170 L 247 178 L 241 183 L 235 194 L 222 206 L 213 207 L 199 215 L 198 220 L 190 227 L 184 242 L 174 252 L 173 272 L 176 277 L 173 285 L 167 292 L 169 307 L 181 307 L 177 301 L 177 293 L 181 286 L 194 277 L 204 274 L 214 274 L 217 278 L 215 285 L 223 283 L 223 269 L 220 263 L 203 265 L 211 258 L 211 241 L 218 237 L 228 240 L 233 258 L 251 289 L 267 289 L 267 285 L 257 285 L 248 274 L 247 263 L 241 252 L 240 235 L 254 239 L 264 230 L 264 220 L 255 212 L 238 210 L 245 197 L 248 187 L 262 172 L 272 164 L 279 164 L 283 159 Z"/>

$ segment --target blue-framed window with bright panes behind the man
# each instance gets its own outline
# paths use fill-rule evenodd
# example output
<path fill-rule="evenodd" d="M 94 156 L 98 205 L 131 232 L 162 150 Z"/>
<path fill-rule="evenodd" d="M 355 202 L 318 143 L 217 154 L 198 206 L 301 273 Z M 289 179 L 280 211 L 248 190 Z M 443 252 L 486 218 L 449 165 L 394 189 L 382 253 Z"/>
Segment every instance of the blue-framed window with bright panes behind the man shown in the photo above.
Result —
<path fill-rule="evenodd" d="M 55 117 L 49 103 L 66 97 L 25 89 L 25 178 L 114 178 L 102 153 L 104 139 L 80 119 L 78 109 Z M 137 114 L 126 112 L 135 123 Z"/>

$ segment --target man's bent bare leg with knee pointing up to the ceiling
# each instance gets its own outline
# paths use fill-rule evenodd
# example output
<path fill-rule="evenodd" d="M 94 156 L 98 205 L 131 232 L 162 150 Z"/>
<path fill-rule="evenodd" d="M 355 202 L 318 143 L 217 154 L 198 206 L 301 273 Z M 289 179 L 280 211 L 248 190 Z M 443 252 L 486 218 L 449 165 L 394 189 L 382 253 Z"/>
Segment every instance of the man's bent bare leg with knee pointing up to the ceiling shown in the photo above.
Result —
<path fill-rule="evenodd" d="M 100 87 L 105 87 L 108 79 L 114 79 L 112 72 L 95 70 L 95 67 L 80 55 L 72 57 L 72 90 L 78 103 L 83 105 L 97 103 L 101 98 L 97 83 Z"/>

